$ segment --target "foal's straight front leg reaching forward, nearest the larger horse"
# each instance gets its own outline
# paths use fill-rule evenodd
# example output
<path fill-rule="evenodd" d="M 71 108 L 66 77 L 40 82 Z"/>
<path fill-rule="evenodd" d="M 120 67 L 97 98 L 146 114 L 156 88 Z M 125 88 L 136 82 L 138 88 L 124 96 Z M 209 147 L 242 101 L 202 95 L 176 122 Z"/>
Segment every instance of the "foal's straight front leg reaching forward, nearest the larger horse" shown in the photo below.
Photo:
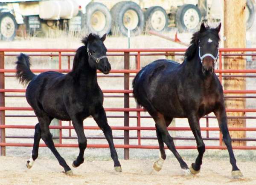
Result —
<path fill-rule="evenodd" d="M 99 128 L 102 129 L 102 131 L 108 141 L 110 152 L 111 152 L 111 158 L 114 161 L 115 171 L 122 172 L 122 168 L 121 168 L 121 165 L 118 160 L 117 153 L 116 153 L 116 148 L 113 143 L 112 130 L 111 130 L 110 126 L 108 125 L 108 121 L 107 121 L 107 117 L 106 117 L 104 108 L 103 107 L 99 108 L 99 110 L 92 116 L 93 116 L 93 119 L 96 121 L 96 123 L 99 125 Z"/>

